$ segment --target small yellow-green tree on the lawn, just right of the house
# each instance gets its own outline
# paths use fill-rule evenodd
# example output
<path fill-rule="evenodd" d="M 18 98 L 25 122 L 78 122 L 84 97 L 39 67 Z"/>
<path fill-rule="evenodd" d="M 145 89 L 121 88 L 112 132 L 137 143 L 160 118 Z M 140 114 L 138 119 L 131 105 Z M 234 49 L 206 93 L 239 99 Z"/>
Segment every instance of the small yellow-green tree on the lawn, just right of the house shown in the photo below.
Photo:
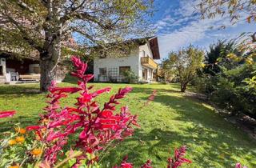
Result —
<path fill-rule="evenodd" d="M 202 66 L 204 52 L 194 46 L 178 52 L 170 52 L 169 58 L 163 63 L 164 70 L 175 70 L 178 73 L 181 91 L 186 91 L 186 86 L 192 81 L 197 70 Z"/>

